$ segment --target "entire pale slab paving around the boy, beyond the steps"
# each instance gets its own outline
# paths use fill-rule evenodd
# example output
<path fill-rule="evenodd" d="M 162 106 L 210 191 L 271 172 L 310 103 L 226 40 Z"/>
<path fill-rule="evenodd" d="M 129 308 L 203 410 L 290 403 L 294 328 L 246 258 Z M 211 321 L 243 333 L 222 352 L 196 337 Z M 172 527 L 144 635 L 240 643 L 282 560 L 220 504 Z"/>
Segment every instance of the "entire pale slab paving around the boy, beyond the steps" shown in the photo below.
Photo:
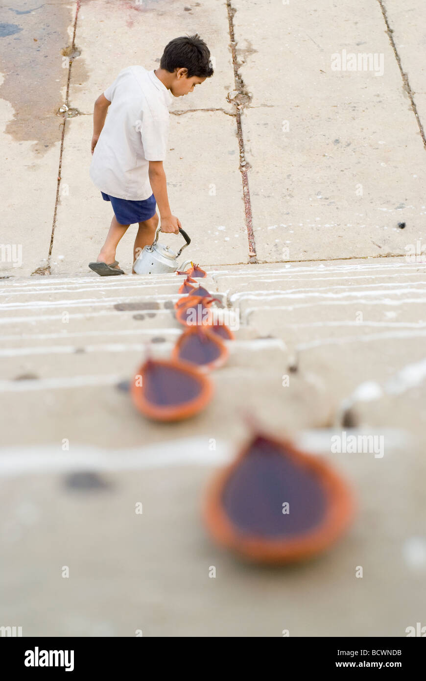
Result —
<path fill-rule="evenodd" d="M 16 12 L 27 12 L 14 3 L 12 10 L 3 8 L 6 18 L 14 18 L 15 5 Z M 166 163 L 171 202 L 193 233 L 199 259 L 214 265 L 248 259 L 235 106 L 226 99 L 235 87 L 234 66 L 242 78 L 240 142 L 249 168 L 248 210 L 259 262 L 403 255 L 423 238 L 426 178 L 419 125 L 425 95 L 417 59 L 425 49 L 419 29 L 423 7 L 416 0 L 403 9 L 393 0 L 356 8 L 348 0 L 337 8 L 327 0 L 321 12 L 306 0 L 289 5 L 269 0 L 266 5 L 255 0 L 236 0 L 231 7 L 83 0 L 78 12 L 76 3 L 59 2 L 43 13 L 31 7 L 27 14 L 16 14 L 21 30 L 1 38 L 10 54 L 0 91 L 5 125 L 1 144 L 10 162 L 3 189 L 15 234 L 12 243 L 3 227 L 5 270 L 27 276 L 46 266 L 53 226 L 52 272 L 84 272 L 87 259 L 95 257 L 92 252 L 103 240 L 110 207 L 98 200 L 84 172 L 90 163 L 93 101 L 120 68 L 135 61 L 148 67 L 158 63 L 155 54 L 163 43 L 159 46 L 154 29 L 159 21 L 165 27 L 163 42 L 176 32 L 199 31 L 216 65 L 204 89 L 174 102 Z M 61 50 L 70 48 L 74 27 L 68 70 Z M 142 30 L 144 44 L 139 48 L 129 37 Z M 373 61 L 370 70 L 333 70 L 331 56 L 342 56 L 342 50 L 376 55 L 376 66 Z M 12 87 L 12 69 L 18 64 L 25 78 L 29 59 L 37 77 L 30 89 L 23 89 L 27 99 L 22 99 Z M 64 123 L 56 114 L 67 96 L 68 76 L 71 117 L 65 120 L 54 219 Z M 29 192 L 22 192 L 22 186 Z M 406 223 L 405 229 L 398 223 Z M 120 259 L 129 267 L 126 242 Z M 14 262 L 14 244 L 22 249 L 19 267 L 14 267 L 20 262 L 18 254 Z"/>

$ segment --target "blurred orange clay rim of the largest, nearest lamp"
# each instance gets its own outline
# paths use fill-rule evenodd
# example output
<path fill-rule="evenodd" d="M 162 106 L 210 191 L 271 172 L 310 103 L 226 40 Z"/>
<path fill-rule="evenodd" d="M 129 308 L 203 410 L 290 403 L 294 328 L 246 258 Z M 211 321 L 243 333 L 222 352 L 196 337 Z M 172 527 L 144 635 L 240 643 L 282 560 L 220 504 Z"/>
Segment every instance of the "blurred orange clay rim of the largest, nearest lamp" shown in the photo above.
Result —
<path fill-rule="evenodd" d="M 321 524 L 303 535 L 291 539 L 265 539 L 242 533 L 229 520 L 222 505 L 223 491 L 227 480 L 246 456 L 252 440 L 244 447 L 235 461 L 216 474 L 206 491 L 203 506 L 203 520 L 216 541 L 225 548 L 257 563 L 293 563 L 312 558 L 325 551 L 344 533 L 355 516 L 355 501 L 348 484 L 331 466 L 318 460 L 312 454 L 305 454 L 287 440 L 278 440 L 264 433 L 258 433 L 281 449 L 283 455 L 296 460 L 321 480 L 327 496 L 327 509 Z"/>

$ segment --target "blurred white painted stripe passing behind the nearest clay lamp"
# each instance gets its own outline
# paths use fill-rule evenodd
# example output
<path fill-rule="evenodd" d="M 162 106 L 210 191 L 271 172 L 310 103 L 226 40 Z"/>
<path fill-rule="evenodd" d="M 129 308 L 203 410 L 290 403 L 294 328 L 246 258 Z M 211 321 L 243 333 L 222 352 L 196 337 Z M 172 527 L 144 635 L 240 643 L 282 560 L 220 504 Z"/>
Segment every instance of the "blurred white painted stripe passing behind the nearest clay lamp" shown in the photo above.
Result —
<path fill-rule="evenodd" d="M 346 428 L 346 437 L 380 434 L 384 437 L 387 455 L 393 449 L 409 446 L 412 437 L 397 428 L 357 430 Z M 312 429 L 299 432 L 295 445 L 310 454 L 330 454 L 331 438 L 342 437 L 342 429 Z M 216 440 L 216 449 L 210 451 L 208 437 L 173 439 L 129 449 L 100 449 L 90 445 L 73 445 L 72 452 L 63 452 L 54 445 L 32 447 L 2 447 L 0 449 L 0 475 L 66 474 L 83 471 L 113 473 L 118 471 L 144 471 L 170 466 L 223 466 L 233 460 L 237 447 L 229 441 Z M 334 454 L 338 460 L 347 457 L 372 457 L 374 454 Z M 378 464 L 380 465 L 380 464 Z"/>

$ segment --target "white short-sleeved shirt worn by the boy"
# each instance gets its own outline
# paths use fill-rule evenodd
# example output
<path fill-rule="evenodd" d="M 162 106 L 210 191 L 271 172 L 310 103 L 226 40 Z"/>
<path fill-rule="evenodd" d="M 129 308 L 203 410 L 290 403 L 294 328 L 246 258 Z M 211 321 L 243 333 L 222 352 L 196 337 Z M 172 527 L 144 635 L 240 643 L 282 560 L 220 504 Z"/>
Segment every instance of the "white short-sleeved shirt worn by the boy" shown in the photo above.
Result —
<path fill-rule="evenodd" d="M 148 161 L 165 159 L 173 95 L 142 66 L 120 71 L 103 94 L 111 105 L 93 152 L 93 183 L 118 199 L 148 199 Z"/>

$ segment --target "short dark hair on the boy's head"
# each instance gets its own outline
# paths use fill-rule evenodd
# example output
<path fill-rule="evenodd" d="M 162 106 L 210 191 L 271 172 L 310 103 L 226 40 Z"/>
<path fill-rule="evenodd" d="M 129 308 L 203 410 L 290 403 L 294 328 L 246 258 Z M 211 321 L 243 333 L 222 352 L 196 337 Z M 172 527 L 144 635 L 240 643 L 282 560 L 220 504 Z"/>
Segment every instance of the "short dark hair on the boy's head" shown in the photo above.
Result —
<path fill-rule="evenodd" d="M 161 57 L 160 68 L 171 74 L 174 69 L 188 69 L 187 78 L 191 76 L 210 78 L 213 75 L 210 50 L 198 33 L 182 35 L 167 43 Z"/>

